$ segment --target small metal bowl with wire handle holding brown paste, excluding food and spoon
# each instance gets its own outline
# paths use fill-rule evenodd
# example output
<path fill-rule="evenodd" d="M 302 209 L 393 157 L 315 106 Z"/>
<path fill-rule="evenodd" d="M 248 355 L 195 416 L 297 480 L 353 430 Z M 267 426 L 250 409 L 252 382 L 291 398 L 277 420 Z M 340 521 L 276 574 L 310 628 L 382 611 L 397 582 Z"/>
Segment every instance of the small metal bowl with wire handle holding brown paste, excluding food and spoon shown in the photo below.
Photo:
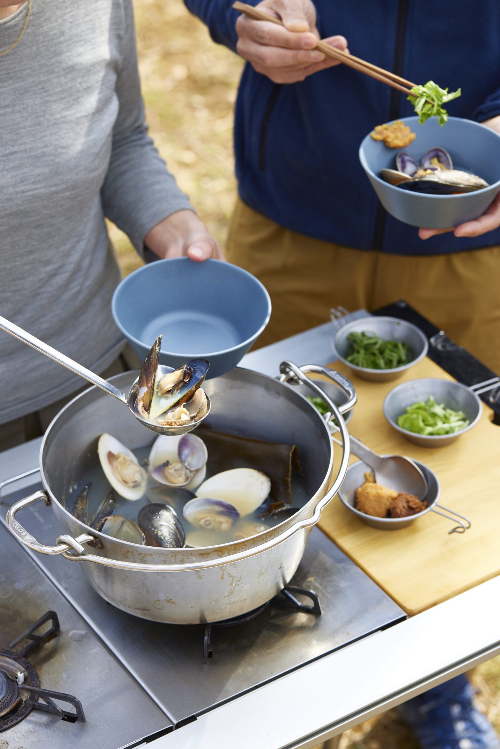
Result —
<path fill-rule="evenodd" d="M 385 455 L 384 457 L 388 457 Z M 346 478 L 343 480 L 343 485 L 339 489 L 340 501 L 346 506 L 350 512 L 353 512 L 363 523 L 369 525 L 372 528 L 378 530 L 399 530 L 400 528 L 406 528 L 407 526 L 414 523 L 422 515 L 426 515 L 427 512 L 437 512 L 438 515 L 442 515 L 444 518 L 448 518 L 458 525 L 448 531 L 448 533 L 464 533 L 468 528 L 471 527 L 471 521 L 469 518 L 459 515 L 458 512 L 454 512 L 448 507 L 443 507 L 438 504 L 439 497 L 441 495 L 441 485 L 439 479 L 429 467 L 416 461 L 412 458 L 412 461 L 418 465 L 422 473 L 424 473 L 427 479 L 427 495 L 425 497 L 427 501 L 427 507 L 422 512 L 418 512 L 417 515 L 410 515 L 409 518 L 374 518 L 373 515 L 367 515 L 365 512 L 360 512 L 355 508 L 355 494 L 361 484 L 364 483 L 364 474 L 370 470 L 363 461 L 357 461 L 349 466 L 346 473 Z M 442 512 L 445 510 L 446 512 Z M 447 515 L 446 513 L 450 513 Z M 461 518 L 457 520 L 457 518 Z M 462 522 L 463 521 L 463 522 Z"/>

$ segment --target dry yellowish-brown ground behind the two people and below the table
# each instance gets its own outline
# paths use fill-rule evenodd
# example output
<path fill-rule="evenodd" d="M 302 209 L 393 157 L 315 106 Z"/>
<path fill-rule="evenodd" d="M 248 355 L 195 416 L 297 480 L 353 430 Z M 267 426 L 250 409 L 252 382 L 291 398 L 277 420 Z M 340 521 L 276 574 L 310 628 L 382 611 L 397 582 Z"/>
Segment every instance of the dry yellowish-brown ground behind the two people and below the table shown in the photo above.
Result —
<path fill-rule="evenodd" d="M 214 44 L 182 0 L 134 0 L 139 67 L 150 133 L 209 230 L 225 242 L 235 201 L 232 117 L 242 62 Z M 141 264 L 112 227 L 122 272 Z M 370 677 L 370 665 L 360 678 Z M 376 678 L 373 676 L 372 678 Z M 500 657 L 471 676 L 478 706 L 500 732 Z M 343 734 L 340 749 L 418 749 L 389 711 Z"/>

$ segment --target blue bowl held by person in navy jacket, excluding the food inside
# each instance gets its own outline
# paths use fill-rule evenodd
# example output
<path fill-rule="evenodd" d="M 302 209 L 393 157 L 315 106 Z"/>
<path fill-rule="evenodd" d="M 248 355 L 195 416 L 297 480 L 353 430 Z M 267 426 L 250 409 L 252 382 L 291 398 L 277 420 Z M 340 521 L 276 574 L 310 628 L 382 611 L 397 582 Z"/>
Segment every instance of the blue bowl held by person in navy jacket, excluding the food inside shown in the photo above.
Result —
<path fill-rule="evenodd" d="M 441 127 L 433 117 L 424 125 L 418 117 L 403 118 L 417 133 L 407 148 L 388 148 L 370 134 L 361 143 L 359 158 L 380 202 L 391 216 L 412 226 L 445 229 L 481 216 L 500 191 L 500 136 L 471 120 L 449 118 Z M 445 148 L 455 169 L 482 177 L 490 187 L 461 195 L 421 195 L 394 187 L 380 178 L 381 169 L 396 169 L 396 154 L 406 151 L 418 163 L 426 151 Z"/>

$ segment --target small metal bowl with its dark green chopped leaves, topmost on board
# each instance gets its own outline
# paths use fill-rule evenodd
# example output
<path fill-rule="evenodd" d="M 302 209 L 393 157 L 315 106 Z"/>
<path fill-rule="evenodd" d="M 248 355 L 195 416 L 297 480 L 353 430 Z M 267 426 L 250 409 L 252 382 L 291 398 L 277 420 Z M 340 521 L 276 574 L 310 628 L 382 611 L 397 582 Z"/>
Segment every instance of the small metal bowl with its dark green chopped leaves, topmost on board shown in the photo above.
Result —
<path fill-rule="evenodd" d="M 412 323 L 397 318 L 369 317 L 340 327 L 334 354 L 365 380 L 400 377 L 426 354 L 427 337 Z"/>

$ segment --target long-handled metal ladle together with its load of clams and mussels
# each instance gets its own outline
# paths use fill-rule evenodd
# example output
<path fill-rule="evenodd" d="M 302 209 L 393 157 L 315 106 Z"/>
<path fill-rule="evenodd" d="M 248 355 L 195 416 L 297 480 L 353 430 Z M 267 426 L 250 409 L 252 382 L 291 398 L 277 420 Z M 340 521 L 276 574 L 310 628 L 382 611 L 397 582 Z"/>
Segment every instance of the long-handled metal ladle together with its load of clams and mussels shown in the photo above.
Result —
<path fill-rule="evenodd" d="M 66 369 L 70 369 L 71 372 L 79 375 L 79 377 L 83 377 L 84 380 L 88 380 L 88 382 L 90 382 L 92 385 L 100 387 L 100 389 L 104 390 L 105 392 L 109 392 L 109 395 L 117 398 L 118 401 L 121 401 L 121 403 L 124 403 L 129 408 L 137 421 L 141 422 L 141 424 L 145 426 L 145 428 L 157 432 L 157 434 L 187 434 L 187 432 L 192 431 L 194 428 L 199 426 L 199 424 L 201 424 L 201 422 L 208 416 L 208 413 L 210 413 L 210 399 L 208 398 L 208 395 L 205 395 L 205 393 L 203 393 L 205 401 L 203 403 L 202 410 L 199 410 L 198 413 L 196 413 L 196 419 L 190 419 L 186 421 L 175 419 L 175 422 L 167 425 L 160 424 L 158 423 L 157 419 L 152 419 L 145 415 L 146 413 L 149 413 L 149 409 L 147 407 L 145 408 L 143 404 L 143 401 L 145 399 L 145 388 L 147 388 L 147 386 L 150 386 L 154 389 L 154 387 L 163 379 L 163 377 L 166 377 L 166 375 L 177 371 L 172 367 L 158 363 L 158 357 L 160 355 L 161 336 L 159 336 L 158 339 L 154 342 L 154 345 L 148 354 L 148 358 L 142 366 L 141 374 L 133 383 L 128 395 L 125 395 L 124 392 L 118 389 L 118 387 L 112 385 L 112 383 L 108 382 L 107 380 L 103 380 L 102 377 L 99 377 L 99 375 L 95 375 L 94 372 L 91 372 L 90 369 L 86 369 L 81 364 L 74 362 L 64 354 L 61 354 L 60 351 L 52 348 L 52 346 L 49 346 L 46 343 L 43 343 L 43 341 L 40 341 L 34 336 L 31 336 L 31 333 L 26 333 L 25 330 L 22 330 L 22 328 L 11 323 L 6 318 L 1 317 L 1 315 L 0 329 L 5 330 L 6 333 L 9 333 L 10 336 L 14 336 L 14 338 L 19 339 L 19 341 L 28 344 L 28 346 L 34 348 L 35 351 L 40 351 L 40 354 L 44 354 L 46 357 L 49 357 L 49 359 L 52 359 L 58 364 L 66 367 Z M 199 385 L 202 383 L 203 379 L 205 378 L 206 372 L 208 371 L 208 361 L 205 359 L 196 359 L 191 362 L 187 362 L 187 367 L 193 370 L 197 379 L 195 385 L 191 384 L 190 386 L 188 386 L 188 383 L 181 383 L 181 388 L 178 389 L 177 394 L 179 395 L 179 397 L 184 394 L 184 398 L 192 396 L 194 392 L 196 392 L 196 387 L 199 387 Z M 144 377 L 148 378 L 148 383 L 145 383 Z M 153 397 L 154 394 L 151 395 L 151 400 Z M 169 395 L 167 394 L 166 405 L 169 404 L 168 398 Z M 175 403 L 172 402 L 172 406 L 173 405 L 175 405 Z"/>

